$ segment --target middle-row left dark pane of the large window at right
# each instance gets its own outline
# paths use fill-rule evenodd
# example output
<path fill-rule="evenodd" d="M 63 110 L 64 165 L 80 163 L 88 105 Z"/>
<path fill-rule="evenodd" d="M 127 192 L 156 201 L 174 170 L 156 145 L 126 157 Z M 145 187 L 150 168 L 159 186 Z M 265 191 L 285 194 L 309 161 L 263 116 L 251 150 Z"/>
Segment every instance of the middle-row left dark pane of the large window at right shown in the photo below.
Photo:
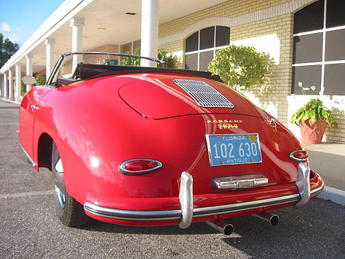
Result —
<path fill-rule="evenodd" d="M 294 64 L 322 61 L 322 32 L 294 36 Z"/>

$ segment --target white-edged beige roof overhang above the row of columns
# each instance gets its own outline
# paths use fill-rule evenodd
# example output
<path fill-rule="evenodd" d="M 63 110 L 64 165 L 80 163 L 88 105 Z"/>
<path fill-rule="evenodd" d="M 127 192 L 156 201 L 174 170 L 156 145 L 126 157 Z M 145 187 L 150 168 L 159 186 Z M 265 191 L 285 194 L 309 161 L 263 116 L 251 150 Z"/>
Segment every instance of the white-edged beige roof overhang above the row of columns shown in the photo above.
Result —
<path fill-rule="evenodd" d="M 222 2 L 225 1 L 159 1 L 159 25 Z M 141 0 L 66 0 L 6 62 L 0 73 L 4 73 L 14 64 L 25 65 L 25 56 L 29 53 L 34 56 L 34 73 L 44 70 L 44 40 L 47 38 L 55 38 L 54 60 L 57 60 L 61 53 L 71 51 L 70 20 L 73 17 L 85 18 L 82 47 L 84 51 L 92 51 L 103 45 L 122 45 L 138 40 L 141 31 L 141 5 Z M 135 14 L 129 15 L 127 12 Z"/>

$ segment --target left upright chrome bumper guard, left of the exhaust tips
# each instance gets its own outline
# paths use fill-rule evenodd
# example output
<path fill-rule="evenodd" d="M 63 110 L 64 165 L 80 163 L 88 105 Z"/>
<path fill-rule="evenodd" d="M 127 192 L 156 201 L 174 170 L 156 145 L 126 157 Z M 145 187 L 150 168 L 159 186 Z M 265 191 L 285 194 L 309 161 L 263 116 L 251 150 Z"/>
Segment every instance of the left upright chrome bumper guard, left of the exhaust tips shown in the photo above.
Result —
<path fill-rule="evenodd" d="M 187 172 L 181 173 L 179 201 L 182 214 L 179 227 L 187 228 L 193 219 L 193 177 Z"/>

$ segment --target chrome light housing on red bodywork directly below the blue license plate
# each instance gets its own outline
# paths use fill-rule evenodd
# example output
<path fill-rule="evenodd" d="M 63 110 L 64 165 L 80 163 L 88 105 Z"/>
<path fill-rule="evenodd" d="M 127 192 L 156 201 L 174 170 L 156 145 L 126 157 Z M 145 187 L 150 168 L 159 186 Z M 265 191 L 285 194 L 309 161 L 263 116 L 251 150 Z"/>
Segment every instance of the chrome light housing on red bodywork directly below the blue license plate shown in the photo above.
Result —
<path fill-rule="evenodd" d="M 268 178 L 261 173 L 251 173 L 248 175 L 227 175 L 223 177 L 216 177 L 212 184 L 217 189 L 229 188 L 251 188 L 262 184 L 268 184 Z"/>

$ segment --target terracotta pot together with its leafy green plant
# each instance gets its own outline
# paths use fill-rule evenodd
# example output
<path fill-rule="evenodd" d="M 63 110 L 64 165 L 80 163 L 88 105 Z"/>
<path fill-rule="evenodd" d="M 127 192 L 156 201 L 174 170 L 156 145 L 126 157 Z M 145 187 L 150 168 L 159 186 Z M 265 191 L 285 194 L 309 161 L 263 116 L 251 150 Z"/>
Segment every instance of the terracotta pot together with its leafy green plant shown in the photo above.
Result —
<path fill-rule="evenodd" d="M 292 114 L 291 123 L 300 127 L 302 142 L 307 144 L 320 144 L 327 124 L 337 127 L 332 111 L 325 108 L 319 99 L 310 99 L 299 108 Z"/>

